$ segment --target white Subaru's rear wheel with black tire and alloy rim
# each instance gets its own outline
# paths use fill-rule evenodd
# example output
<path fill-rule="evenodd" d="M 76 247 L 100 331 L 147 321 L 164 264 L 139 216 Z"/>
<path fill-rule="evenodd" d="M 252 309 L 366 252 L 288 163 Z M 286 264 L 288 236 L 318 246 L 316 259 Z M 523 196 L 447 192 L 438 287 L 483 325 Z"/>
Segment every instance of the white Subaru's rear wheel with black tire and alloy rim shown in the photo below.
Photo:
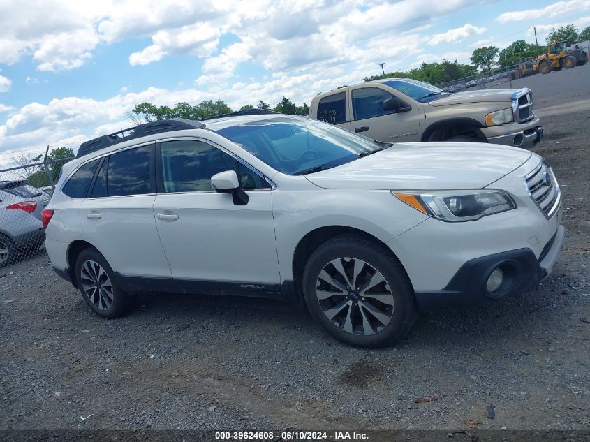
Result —
<path fill-rule="evenodd" d="M 76 260 L 76 279 L 84 301 L 103 318 L 118 318 L 128 311 L 132 298 L 119 283 L 105 257 L 94 249 L 84 249 Z"/>

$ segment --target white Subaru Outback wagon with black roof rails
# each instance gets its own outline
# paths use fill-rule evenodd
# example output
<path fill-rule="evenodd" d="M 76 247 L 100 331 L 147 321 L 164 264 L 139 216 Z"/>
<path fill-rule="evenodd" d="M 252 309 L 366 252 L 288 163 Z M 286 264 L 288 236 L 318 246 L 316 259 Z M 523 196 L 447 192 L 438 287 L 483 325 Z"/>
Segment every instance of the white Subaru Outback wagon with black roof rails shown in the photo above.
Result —
<path fill-rule="evenodd" d="M 563 244 L 543 159 L 469 142 L 374 142 L 263 110 L 84 142 L 43 212 L 52 265 L 97 314 L 142 290 L 307 307 L 383 346 L 420 309 L 522 293 Z"/>

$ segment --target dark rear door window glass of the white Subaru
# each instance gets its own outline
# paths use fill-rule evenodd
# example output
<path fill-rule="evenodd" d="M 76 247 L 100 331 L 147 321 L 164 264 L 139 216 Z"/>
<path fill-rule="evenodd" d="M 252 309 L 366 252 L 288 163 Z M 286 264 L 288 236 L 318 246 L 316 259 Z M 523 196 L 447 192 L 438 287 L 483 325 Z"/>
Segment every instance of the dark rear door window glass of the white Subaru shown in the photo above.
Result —
<path fill-rule="evenodd" d="M 106 170 L 107 196 L 151 193 L 151 158 L 152 146 L 135 147 L 111 154 Z"/>

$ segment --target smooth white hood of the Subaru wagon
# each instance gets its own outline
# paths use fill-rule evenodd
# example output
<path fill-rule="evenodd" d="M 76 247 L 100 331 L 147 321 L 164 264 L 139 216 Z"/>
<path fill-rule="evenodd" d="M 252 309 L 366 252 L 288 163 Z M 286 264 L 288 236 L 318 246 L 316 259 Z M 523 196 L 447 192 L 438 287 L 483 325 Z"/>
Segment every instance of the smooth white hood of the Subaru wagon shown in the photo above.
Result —
<path fill-rule="evenodd" d="M 481 189 L 530 156 L 485 143 L 408 142 L 305 177 L 325 189 Z"/>

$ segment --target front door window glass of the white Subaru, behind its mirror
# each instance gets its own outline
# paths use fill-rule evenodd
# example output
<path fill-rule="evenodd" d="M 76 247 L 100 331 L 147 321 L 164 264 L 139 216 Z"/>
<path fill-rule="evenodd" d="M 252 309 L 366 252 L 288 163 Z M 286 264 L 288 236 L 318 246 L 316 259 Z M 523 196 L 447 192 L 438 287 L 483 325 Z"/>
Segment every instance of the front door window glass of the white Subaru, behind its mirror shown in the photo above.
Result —
<path fill-rule="evenodd" d="M 163 142 L 161 145 L 163 190 L 172 192 L 212 191 L 211 177 L 235 170 L 242 189 L 264 189 L 268 183 L 221 149 L 196 140 Z"/>

